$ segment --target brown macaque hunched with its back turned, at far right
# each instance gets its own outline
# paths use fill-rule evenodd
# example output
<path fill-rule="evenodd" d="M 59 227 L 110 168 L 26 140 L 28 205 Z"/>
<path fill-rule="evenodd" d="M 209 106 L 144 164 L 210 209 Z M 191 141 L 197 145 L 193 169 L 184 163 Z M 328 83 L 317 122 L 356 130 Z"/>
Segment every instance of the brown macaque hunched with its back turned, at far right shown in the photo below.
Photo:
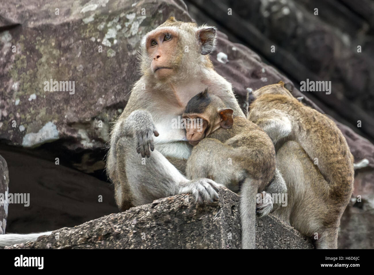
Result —
<path fill-rule="evenodd" d="M 253 93 L 248 119 L 270 136 L 288 204 L 273 214 L 307 236 L 316 248 L 337 248 L 338 227 L 353 190 L 353 156 L 335 123 L 304 106 L 284 88 L 268 85 Z M 276 185 L 270 184 L 272 193 Z"/>

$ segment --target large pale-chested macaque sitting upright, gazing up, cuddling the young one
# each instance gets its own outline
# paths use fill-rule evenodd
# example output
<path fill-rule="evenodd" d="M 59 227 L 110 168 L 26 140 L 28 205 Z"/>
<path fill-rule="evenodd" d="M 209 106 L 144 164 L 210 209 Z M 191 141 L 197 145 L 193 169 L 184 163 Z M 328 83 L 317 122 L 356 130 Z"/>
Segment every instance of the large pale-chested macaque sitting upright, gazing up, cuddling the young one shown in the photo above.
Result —
<path fill-rule="evenodd" d="M 214 181 L 189 180 L 175 167 L 183 170 L 192 146 L 184 129 L 173 127 L 187 102 L 205 87 L 235 115 L 244 116 L 231 84 L 209 59 L 215 37 L 214 27 L 171 17 L 142 39 L 142 76 L 111 131 L 107 159 L 121 210 L 181 193 L 191 193 L 199 202 L 217 198 Z"/>

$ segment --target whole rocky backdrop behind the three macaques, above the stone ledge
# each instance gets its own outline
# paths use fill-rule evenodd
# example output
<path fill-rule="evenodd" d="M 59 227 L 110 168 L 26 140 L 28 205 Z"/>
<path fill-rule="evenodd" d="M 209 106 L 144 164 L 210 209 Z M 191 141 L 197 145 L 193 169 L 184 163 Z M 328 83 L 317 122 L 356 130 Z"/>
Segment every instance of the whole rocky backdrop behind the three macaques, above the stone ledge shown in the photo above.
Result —
<path fill-rule="evenodd" d="M 141 37 L 175 16 L 221 31 L 211 58 L 243 109 L 247 89 L 283 80 L 300 96 L 301 81 L 331 80 L 331 94 L 304 92 L 304 102 L 337 121 L 356 162 L 369 160 L 356 170 L 339 247 L 374 248 L 373 13 L 370 0 L 1 3 L 0 172 L 9 169 L 9 192 L 31 198 L 30 207 L 9 205 L 6 231 L 54 230 L 118 211 L 104 171 L 111 123 L 140 76 Z M 74 81 L 75 93 L 44 91 L 50 79 Z"/>

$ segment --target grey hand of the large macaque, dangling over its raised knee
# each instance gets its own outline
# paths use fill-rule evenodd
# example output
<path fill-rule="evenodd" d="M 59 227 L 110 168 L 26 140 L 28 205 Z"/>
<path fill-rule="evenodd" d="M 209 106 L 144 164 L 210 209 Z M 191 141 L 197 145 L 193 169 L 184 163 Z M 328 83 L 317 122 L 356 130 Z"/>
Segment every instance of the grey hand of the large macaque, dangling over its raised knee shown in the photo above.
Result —
<path fill-rule="evenodd" d="M 130 118 L 131 116 L 131 118 Z M 158 137 L 159 133 L 153 124 L 153 119 L 148 111 L 136 110 L 128 117 L 133 122 L 132 132 L 136 143 L 137 153 L 144 158 L 150 157 L 154 150 L 153 134 Z"/>

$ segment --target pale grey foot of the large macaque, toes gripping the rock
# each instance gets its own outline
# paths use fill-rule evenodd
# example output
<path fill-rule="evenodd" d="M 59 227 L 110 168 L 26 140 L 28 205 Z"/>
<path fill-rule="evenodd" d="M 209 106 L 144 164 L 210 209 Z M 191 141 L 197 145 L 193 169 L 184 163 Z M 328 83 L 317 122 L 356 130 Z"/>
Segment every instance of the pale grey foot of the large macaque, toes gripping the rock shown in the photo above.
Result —
<path fill-rule="evenodd" d="M 223 185 L 216 183 L 208 178 L 200 178 L 199 180 L 190 180 L 181 185 L 180 194 L 191 194 L 196 202 L 200 205 L 206 202 L 218 200 L 218 188 Z"/>

